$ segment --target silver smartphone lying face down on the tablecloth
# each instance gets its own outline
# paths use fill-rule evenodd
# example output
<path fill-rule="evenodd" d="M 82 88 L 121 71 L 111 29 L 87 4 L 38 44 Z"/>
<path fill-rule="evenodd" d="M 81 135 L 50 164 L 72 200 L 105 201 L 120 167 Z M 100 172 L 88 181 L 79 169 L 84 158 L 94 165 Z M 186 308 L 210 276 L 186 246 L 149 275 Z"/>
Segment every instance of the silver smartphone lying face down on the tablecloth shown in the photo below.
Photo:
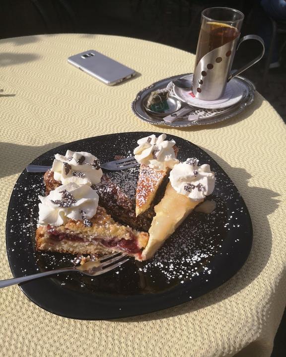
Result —
<path fill-rule="evenodd" d="M 123 82 L 136 74 L 134 69 L 94 50 L 71 56 L 68 62 L 107 85 Z"/>

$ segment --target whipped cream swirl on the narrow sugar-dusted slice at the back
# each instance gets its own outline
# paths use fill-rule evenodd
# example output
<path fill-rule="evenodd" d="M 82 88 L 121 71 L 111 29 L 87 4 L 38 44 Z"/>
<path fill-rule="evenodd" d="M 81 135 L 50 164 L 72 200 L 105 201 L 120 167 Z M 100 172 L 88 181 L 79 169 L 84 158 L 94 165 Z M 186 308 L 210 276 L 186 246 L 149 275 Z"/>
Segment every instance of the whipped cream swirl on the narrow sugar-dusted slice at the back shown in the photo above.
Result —
<path fill-rule="evenodd" d="M 154 134 L 139 139 L 139 146 L 134 149 L 135 159 L 143 165 L 152 169 L 163 171 L 167 168 L 173 168 L 179 163 L 176 159 L 173 146 L 176 142 L 165 140 L 166 134 L 161 134 L 156 138 Z"/>

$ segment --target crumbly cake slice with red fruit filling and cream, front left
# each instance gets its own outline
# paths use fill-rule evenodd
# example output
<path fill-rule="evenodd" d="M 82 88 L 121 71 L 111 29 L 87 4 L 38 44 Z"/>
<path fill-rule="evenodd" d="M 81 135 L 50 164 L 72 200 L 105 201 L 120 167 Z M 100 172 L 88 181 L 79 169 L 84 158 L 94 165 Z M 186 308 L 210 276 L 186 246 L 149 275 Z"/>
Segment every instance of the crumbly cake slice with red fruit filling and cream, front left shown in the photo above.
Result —
<path fill-rule="evenodd" d="M 148 234 L 115 222 L 88 185 L 70 182 L 39 196 L 36 249 L 72 254 L 122 252 L 142 259 Z"/>

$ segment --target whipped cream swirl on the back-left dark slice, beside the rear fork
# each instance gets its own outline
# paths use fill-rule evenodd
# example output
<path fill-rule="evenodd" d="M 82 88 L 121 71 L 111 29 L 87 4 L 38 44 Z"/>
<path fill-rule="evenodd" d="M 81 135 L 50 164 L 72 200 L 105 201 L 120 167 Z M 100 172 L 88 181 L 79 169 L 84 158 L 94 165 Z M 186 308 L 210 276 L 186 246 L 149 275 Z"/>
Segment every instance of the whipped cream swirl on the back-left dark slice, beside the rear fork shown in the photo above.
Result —
<path fill-rule="evenodd" d="M 68 150 L 66 155 L 55 155 L 52 171 L 54 179 L 63 184 L 75 182 L 77 184 L 97 184 L 102 177 L 102 170 L 97 157 L 94 155 L 79 151 Z"/>

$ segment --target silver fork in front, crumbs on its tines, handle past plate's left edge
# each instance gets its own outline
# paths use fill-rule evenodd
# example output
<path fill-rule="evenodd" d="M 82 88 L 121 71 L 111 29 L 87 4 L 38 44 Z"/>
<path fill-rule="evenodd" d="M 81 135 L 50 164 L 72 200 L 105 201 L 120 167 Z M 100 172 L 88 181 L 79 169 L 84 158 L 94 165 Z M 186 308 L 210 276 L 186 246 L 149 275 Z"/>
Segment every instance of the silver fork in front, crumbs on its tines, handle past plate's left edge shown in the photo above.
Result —
<path fill-rule="evenodd" d="M 67 268 L 62 268 L 62 269 L 54 269 L 54 270 L 46 271 L 43 273 L 28 275 L 28 276 L 21 277 L 21 278 L 0 280 L 0 288 L 5 288 L 10 285 L 20 284 L 20 283 L 27 282 L 29 280 L 43 278 L 43 277 L 47 277 L 49 275 L 54 275 L 54 274 L 59 274 L 59 273 L 79 272 L 79 273 L 83 273 L 88 276 L 101 275 L 101 274 L 104 274 L 110 270 L 113 270 L 113 269 L 119 267 L 120 265 L 126 263 L 129 260 L 129 258 L 121 260 L 123 257 L 125 257 L 125 255 L 123 255 L 122 253 L 112 253 L 112 254 L 105 255 L 105 256 L 99 258 L 98 261 L 95 261 L 95 262 L 88 261 L 88 262 L 86 262 L 82 265 L 79 265 L 79 266 L 67 267 Z"/>

